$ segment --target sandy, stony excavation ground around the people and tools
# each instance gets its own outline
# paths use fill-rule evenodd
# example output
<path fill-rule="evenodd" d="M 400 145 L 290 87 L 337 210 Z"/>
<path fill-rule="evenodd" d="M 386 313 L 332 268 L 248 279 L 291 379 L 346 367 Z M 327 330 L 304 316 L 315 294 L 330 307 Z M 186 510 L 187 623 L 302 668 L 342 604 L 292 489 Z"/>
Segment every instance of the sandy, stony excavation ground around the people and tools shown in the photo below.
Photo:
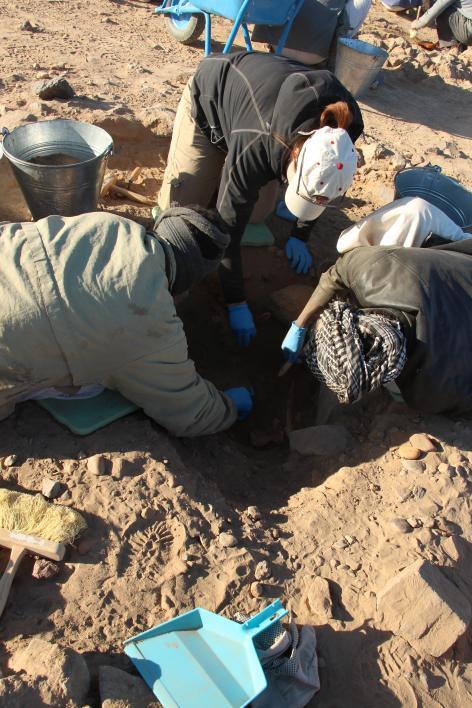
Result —
<path fill-rule="evenodd" d="M 21 30 L 26 20 L 40 31 Z M 472 51 L 426 55 L 407 39 L 410 21 L 374 5 L 366 22 L 362 37 L 391 50 L 389 66 L 384 83 L 361 101 L 365 165 L 346 209 L 327 214 L 313 233 L 315 274 L 293 274 L 280 249 L 289 227 L 272 218 L 276 246 L 244 254 L 259 330 L 249 351 L 232 342 L 215 282 L 181 306 L 200 372 L 221 387 L 255 389 L 250 420 L 194 441 L 170 438 L 139 413 L 86 438 L 34 404 L 0 424 L 0 458 L 17 456 L 12 467 L 3 461 L 3 484 L 39 491 L 45 476 L 60 480 L 59 502 L 88 523 L 56 577 L 34 579 L 33 560 L 23 563 L 0 624 L 4 676 L 12 673 L 9 657 L 40 636 L 83 655 L 92 674 L 88 701 L 98 706 L 98 668 L 132 671 L 122 652 L 129 636 L 194 606 L 232 616 L 280 597 L 298 622 L 317 628 L 322 688 L 310 705 L 472 704 L 466 635 L 433 659 L 383 629 L 376 609 L 384 585 L 418 558 L 441 567 L 472 599 L 470 422 L 421 416 L 382 393 L 332 412 L 330 423 L 349 432 L 346 450 L 302 457 L 289 451 L 284 430 L 323 422 L 318 392 L 304 371 L 276 377 L 285 328 L 271 314 L 270 293 L 313 285 L 335 257 L 339 231 L 393 197 L 398 169 L 431 162 L 472 188 Z M 228 25 L 217 21 L 214 30 L 222 40 Z M 134 188 L 154 197 L 177 102 L 202 44 L 178 45 L 152 5 L 105 0 L 6 0 L 0 40 L 2 125 L 94 122 L 113 135 L 110 169 L 125 177 L 141 165 Z M 75 98 L 40 101 L 35 82 L 59 75 Z M 27 219 L 4 160 L 0 179 L 0 220 Z M 102 206 L 149 220 L 149 207 L 117 199 Z M 398 446 L 418 432 L 432 435 L 436 450 L 408 467 Z M 105 461 L 99 476 L 88 464 L 97 454 Z M 398 518 L 408 519 L 408 533 Z M 222 536 L 228 533 L 234 546 Z M 462 544 L 460 558 L 453 542 Z M 329 612 L 310 603 L 318 576 L 330 584 Z M 26 705 L 18 691 L 18 705 Z M 37 705 L 46 704 L 41 700 Z"/>

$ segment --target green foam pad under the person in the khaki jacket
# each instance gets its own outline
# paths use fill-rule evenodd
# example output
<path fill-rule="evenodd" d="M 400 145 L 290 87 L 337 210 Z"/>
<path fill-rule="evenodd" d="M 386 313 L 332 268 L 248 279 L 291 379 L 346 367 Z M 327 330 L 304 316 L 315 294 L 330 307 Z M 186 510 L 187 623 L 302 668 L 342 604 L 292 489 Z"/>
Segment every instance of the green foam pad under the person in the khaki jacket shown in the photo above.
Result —
<path fill-rule="evenodd" d="M 138 410 L 138 406 L 124 398 L 121 393 L 108 389 L 93 398 L 44 398 L 36 403 L 77 435 L 90 435 L 114 420 Z"/>

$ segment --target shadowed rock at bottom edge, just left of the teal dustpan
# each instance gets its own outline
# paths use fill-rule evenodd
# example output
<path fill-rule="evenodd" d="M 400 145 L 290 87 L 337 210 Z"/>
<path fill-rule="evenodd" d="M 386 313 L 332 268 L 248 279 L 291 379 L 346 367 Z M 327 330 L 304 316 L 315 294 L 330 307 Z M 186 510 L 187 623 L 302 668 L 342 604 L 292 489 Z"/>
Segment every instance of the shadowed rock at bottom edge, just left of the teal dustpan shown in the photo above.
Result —
<path fill-rule="evenodd" d="M 157 708 L 160 704 L 144 681 L 113 666 L 98 671 L 102 708 Z"/>

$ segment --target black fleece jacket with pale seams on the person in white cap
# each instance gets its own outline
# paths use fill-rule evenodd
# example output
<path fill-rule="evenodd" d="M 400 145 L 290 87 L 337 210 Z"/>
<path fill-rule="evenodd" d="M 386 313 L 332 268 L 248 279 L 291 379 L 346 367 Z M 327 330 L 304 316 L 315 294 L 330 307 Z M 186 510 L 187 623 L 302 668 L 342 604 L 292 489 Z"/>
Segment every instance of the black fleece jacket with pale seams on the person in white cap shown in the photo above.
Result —
<path fill-rule="evenodd" d="M 348 103 L 354 117 L 348 132 L 356 140 L 364 128 L 359 106 L 329 71 L 259 52 L 212 55 L 200 63 L 192 83 L 193 117 L 227 155 L 217 207 L 231 236 L 220 268 L 228 303 L 245 299 L 240 242 L 259 190 L 285 179 L 286 146 L 298 133 L 318 128 L 323 109 L 336 101 Z M 294 235 L 306 240 L 306 225 Z"/>

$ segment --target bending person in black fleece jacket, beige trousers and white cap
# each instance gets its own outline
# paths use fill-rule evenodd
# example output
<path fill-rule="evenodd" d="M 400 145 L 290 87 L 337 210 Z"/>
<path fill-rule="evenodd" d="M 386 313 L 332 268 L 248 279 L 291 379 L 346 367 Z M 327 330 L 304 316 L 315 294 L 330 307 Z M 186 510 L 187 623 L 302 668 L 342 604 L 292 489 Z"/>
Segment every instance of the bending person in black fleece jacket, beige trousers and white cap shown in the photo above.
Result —
<path fill-rule="evenodd" d="M 303 149 L 324 126 L 335 129 L 332 154 L 329 159 L 317 155 L 321 167 L 310 176 L 313 150 L 309 154 Z M 293 175 L 302 205 L 294 214 L 303 221 L 294 227 L 286 254 L 297 272 L 308 272 L 312 258 L 306 246 L 307 222 L 341 189 L 333 186 L 341 174 L 344 191 L 352 181 L 352 169 L 342 171 L 345 160 L 339 161 L 344 153 L 338 154 L 338 141 L 348 140 L 354 153 L 351 141 L 362 131 L 359 106 L 333 74 L 287 57 L 258 52 L 211 55 L 189 81 L 177 111 L 158 202 L 162 209 L 173 203 L 209 206 L 217 193 L 216 205 L 231 236 L 220 277 L 239 344 L 249 344 L 256 334 L 244 292 L 240 242 L 261 190 L 264 193 L 274 180 L 285 182 L 287 171 L 290 178 Z M 302 173 L 297 169 L 300 154 Z M 324 163 L 329 163 L 330 174 L 339 171 L 329 179 L 331 192 L 316 188 L 316 180 L 318 187 L 323 185 L 319 170 Z"/>

